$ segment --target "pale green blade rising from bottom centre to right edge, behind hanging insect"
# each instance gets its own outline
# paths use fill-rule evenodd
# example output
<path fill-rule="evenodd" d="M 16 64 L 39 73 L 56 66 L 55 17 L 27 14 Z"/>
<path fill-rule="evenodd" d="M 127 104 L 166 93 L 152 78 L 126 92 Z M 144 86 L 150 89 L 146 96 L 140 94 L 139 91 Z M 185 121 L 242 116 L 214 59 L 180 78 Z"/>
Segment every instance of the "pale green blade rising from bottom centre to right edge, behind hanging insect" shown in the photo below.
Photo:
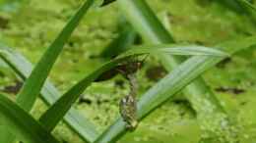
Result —
<path fill-rule="evenodd" d="M 220 47 L 222 50 L 225 49 L 229 54 L 234 54 L 251 46 L 256 46 L 256 36 L 236 39 L 217 45 L 217 47 Z M 157 109 L 164 101 L 173 97 L 175 93 L 189 84 L 189 82 L 199 76 L 203 71 L 212 68 L 222 59 L 211 56 L 195 56 L 182 63 L 142 96 L 138 102 L 138 118 L 144 119 L 147 117 L 148 114 Z M 204 99 L 198 100 L 205 101 Z M 210 106 L 205 108 L 211 108 L 206 110 L 212 110 L 215 107 Z M 213 117 L 215 116 L 213 115 Z M 221 119 L 220 121 L 222 122 L 224 120 Z M 98 137 L 95 143 L 114 142 L 126 132 L 125 122 L 119 118 Z"/>

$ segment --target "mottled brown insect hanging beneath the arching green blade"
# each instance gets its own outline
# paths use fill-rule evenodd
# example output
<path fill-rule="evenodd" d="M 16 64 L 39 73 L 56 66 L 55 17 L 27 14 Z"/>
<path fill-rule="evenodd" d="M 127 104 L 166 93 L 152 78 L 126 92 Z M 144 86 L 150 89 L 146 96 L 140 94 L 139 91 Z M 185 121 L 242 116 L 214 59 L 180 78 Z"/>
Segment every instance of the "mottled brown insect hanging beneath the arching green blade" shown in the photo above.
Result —
<path fill-rule="evenodd" d="M 122 119 L 126 122 L 126 127 L 129 130 L 133 130 L 138 125 L 137 120 L 137 90 L 138 83 L 136 79 L 136 71 L 142 68 L 143 62 L 146 60 L 146 56 L 143 60 L 131 59 L 128 60 L 115 69 L 111 71 L 106 71 L 104 74 L 100 75 L 96 81 L 105 80 L 111 78 L 117 73 L 121 73 L 130 84 L 130 92 L 128 95 L 124 96 L 119 102 L 119 112 Z"/>

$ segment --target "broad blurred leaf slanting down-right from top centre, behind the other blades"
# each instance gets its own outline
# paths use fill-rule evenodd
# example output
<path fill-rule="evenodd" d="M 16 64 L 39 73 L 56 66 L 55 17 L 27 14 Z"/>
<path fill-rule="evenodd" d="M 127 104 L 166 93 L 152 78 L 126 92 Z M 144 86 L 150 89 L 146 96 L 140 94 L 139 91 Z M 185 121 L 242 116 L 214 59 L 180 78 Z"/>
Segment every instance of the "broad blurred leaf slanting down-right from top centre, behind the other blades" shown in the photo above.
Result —
<path fill-rule="evenodd" d="M 165 27 L 160 24 L 159 19 L 145 0 L 118 0 L 117 4 L 127 21 L 134 26 L 136 31 L 147 42 L 153 44 L 174 42 L 171 35 L 168 33 Z M 166 71 L 172 71 L 184 61 L 184 58 L 176 56 L 170 57 L 166 54 L 158 54 L 156 57 L 160 59 L 160 62 Z M 198 77 L 182 91 L 185 97 L 191 103 L 193 109 L 198 114 L 197 118 L 201 121 L 202 128 L 209 130 L 216 128 L 220 130 L 221 124 L 214 123 L 219 120 L 211 117 L 211 115 L 224 116 L 226 114 L 224 108 L 221 106 L 213 91 L 206 84 L 205 80 L 202 77 Z M 205 100 L 206 102 L 201 102 L 201 100 L 198 99 Z M 205 110 L 205 107 L 207 106 L 215 107 L 213 108 L 212 113 Z M 209 119 L 211 119 L 213 125 L 206 126 L 206 123 L 209 122 L 207 120 Z M 229 120 L 226 121 L 229 122 Z M 211 132 L 219 133 L 219 131 L 216 130 Z"/>

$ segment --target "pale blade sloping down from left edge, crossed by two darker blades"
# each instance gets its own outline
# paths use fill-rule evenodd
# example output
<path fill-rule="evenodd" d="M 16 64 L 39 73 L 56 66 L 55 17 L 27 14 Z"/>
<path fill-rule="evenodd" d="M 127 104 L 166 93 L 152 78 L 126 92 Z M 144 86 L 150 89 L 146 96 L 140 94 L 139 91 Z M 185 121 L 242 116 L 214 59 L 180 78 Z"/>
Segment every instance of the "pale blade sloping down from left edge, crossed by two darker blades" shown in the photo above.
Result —
<path fill-rule="evenodd" d="M 18 52 L 14 52 L 10 48 L 4 48 L 3 46 L 1 46 L 0 51 L 1 60 L 3 60 L 13 71 L 15 71 L 18 76 L 24 80 L 29 77 L 32 72 L 32 64 L 23 55 Z M 40 95 L 48 106 L 55 103 L 61 96 L 60 92 L 49 80 L 46 80 L 40 91 Z M 95 124 L 92 123 L 89 119 L 81 116 L 75 109 L 70 109 L 70 111 L 64 117 L 64 121 L 85 141 L 92 142 L 96 140 L 98 132 L 96 131 Z M 3 133 L 1 133 L 1 135 L 3 135 Z M 4 139 L 4 136 L 1 137 Z"/>

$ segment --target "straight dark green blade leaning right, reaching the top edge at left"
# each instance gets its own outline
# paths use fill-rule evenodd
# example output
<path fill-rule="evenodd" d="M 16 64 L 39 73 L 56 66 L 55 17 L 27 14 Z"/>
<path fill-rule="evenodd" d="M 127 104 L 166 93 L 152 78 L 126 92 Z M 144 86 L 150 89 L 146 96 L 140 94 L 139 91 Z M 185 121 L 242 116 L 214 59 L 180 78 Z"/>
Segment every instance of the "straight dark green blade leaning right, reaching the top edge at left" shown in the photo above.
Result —
<path fill-rule="evenodd" d="M 84 15 L 88 12 L 89 8 L 94 4 L 94 0 L 87 0 L 83 6 L 78 10 L 74 17 L 66 24 L 57 38 L 52 42 L 46 52 L 43 54 L 39 62 L 32 70 L 31 75 L 26 80 L 20 93 L 17 97 L 17 104 L 24 110 L 30 111 L 32 105 L 35 102 L 37 95 L 39 94 L 41 87 L 43 86 L 50 70 L 52 69 L 55 61 L 57 60 L 60 52 L 62 51 L 65 42 L 69 39 L 74 29 L 80 23 Z M 3 128 L 0 128 L 3 129 Z M 2 132 L 2 131 L 1 131 Z M 5 131 L 7 138 L 15 138 Z M 5 138 L 3 138 L 6 141 Z M 9 140 L 9 139 L 8 139 Z M 0 142 L 1 139 L 0 139 Z M 9 142 L 6 142 L 9 143 Z M 11 143 L 11 142 L 10 142 Z"/>

